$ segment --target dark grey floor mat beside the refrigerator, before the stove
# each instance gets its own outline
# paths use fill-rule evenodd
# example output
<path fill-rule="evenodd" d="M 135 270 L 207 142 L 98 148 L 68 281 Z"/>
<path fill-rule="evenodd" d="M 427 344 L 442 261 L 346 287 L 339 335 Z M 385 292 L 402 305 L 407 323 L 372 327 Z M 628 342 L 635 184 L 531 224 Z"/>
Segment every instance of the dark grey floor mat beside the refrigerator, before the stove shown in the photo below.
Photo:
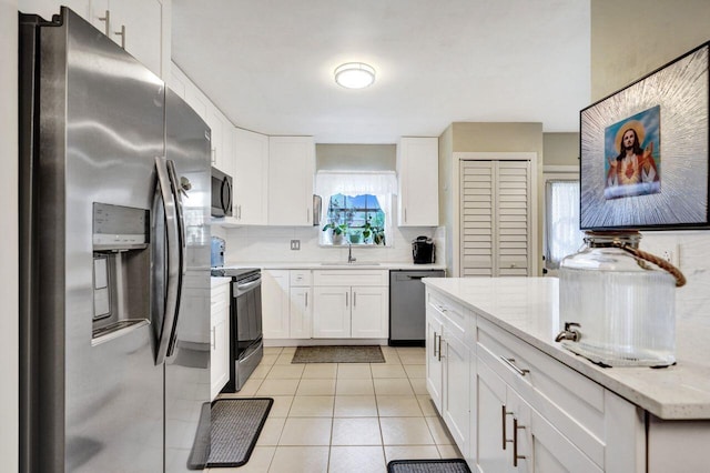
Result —
<path fill-rule="evenodd" d="M 212 403 L 212 441 L 207 467 L 242 466 L 252 455 L 266 422 L 271 397 L 219 399 Z"/>

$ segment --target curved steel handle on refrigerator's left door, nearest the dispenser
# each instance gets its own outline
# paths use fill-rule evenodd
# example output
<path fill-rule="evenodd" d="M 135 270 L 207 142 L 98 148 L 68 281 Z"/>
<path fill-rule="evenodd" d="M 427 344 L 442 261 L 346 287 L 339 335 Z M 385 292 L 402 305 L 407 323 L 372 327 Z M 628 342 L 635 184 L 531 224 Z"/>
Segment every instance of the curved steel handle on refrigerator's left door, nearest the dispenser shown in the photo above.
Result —
<path fill-rule="evenodd" d="M 155 158 L 155 171 L 158 173 L 161 202 L 165 212 L 165 240 L 168 243 L 165 314 L 155 354 L 155 364 L 159 365 L 165 361 L 178 322 L 176 315 L 180 306 L 180 285 L 182 280 L 182 270 L 180 268 L 182 250 L 179 242 L 182 239 L 178 223 L 178 201 L 172 190 L 172 180 L 165 158 Z"/>

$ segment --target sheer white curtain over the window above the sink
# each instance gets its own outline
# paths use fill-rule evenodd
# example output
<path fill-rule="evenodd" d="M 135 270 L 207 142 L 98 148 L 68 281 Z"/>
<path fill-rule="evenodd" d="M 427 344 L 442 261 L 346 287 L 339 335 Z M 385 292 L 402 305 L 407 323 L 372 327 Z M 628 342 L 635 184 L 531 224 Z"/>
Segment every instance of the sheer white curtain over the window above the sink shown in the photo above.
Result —
<path fill-rule="evenodd" d="M 394 171 L 318 171 L 315 174 L 315 193 L 323 198 L 321 222 L 327 223 L 331 195 L 363 195 L 377 198 L 386 215 L 385 241 L 392 242 L 392 197 L 397 193 L 397 175 Z M 323 240 L 321 240 L 323 242 Z"/>

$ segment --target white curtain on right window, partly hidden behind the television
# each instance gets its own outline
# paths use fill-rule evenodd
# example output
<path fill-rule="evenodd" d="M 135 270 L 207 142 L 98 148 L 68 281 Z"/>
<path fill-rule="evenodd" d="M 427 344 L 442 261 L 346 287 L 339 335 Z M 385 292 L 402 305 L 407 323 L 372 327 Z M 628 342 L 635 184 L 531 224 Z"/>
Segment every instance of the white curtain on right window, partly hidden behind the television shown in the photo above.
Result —
<path fill-rule="evenodd" d="M 579 181 L 549 180 L 546 189 L 545 268 L 559 269 L 559 263 L 576 253 L 584 243 L 579 230 Z"/>

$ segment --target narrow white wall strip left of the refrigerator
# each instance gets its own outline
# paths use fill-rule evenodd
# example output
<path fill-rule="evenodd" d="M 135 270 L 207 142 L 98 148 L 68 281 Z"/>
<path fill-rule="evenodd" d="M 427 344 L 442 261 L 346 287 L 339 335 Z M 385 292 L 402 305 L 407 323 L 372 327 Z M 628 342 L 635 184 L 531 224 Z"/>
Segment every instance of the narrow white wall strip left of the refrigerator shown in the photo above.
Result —
<path fill-rule="evenodd" d="M 18 471 L 18 2 L 0 0 L 0 459 Z"/>

